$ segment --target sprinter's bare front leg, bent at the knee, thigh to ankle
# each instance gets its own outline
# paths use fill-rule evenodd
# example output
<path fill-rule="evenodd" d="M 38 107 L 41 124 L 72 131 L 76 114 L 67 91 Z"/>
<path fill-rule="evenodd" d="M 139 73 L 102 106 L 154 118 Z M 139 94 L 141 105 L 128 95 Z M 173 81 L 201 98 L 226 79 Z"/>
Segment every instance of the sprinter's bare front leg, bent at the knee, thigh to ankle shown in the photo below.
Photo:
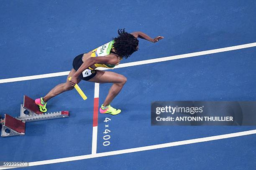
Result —
<path fill-rule="evenodd" d="M 112 82 L 108 95 L 103 103 L 103 106 L 108 106 L 116 95 L 122 90 L 123 85 L 127 81 L 126 77 L 115 72 L 97 70 L 95 77 L 92 77 L 90 82 L 106 83 Z"/>

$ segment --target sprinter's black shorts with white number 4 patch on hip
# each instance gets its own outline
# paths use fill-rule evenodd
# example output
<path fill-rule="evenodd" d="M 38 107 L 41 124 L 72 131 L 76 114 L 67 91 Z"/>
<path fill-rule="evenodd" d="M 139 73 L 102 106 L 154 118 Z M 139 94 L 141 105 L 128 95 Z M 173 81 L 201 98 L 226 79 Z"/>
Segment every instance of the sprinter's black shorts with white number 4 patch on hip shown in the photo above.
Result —
<path fill-rule="evenodd" d="M 82 57 L 84 54 L 77 55 L 77 57 L 73 60 L 73 68 L 77 71 L 79 67 L 83 64 Z M 90 80 L 92 77 L 94 77 L 97 74 L 96 70 L 90 70 L 89 68 L 85 69 L 81 75 L 79 75 L 79 78 L 82 80 Z"/>

